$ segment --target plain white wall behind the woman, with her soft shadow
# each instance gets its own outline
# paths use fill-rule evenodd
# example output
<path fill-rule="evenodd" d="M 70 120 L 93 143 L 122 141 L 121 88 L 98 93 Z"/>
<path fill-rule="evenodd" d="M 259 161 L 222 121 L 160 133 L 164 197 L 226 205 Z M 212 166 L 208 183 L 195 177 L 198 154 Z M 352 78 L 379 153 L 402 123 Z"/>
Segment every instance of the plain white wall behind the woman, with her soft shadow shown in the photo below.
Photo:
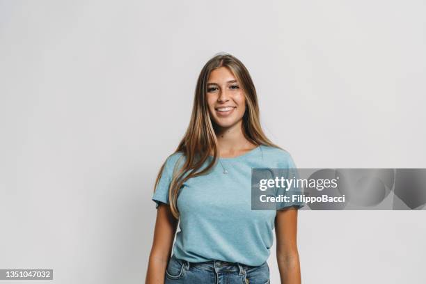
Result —
<path fill-rule="evenodd" d="M 143 283 L 155 176 L 217 52 L 251 72 L 297 166 L 426 168 L 425 15 L 424 1 L 0 1 L 0 269 Z M 426 283 L 425 211 L 302 211 L 298 233 L 303 283 Z"/>

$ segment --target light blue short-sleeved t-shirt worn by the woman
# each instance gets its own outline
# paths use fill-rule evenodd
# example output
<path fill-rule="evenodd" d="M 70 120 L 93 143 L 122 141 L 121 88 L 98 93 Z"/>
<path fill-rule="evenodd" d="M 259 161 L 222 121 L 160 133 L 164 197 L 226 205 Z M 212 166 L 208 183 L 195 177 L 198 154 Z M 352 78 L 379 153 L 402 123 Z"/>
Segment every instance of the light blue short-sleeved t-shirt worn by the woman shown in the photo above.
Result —
<path fill-rule="evenodd" d="M 168 203 L 173 169 L 182 166 L 183 161 L 180 152 L 167 158 L 152 196 L 157 208 L 160 203 Z M 296 166 L 288 152 L 266 145 L 237 157 L 220 158 L 220 161 L 208 174 L 187 180 L 180 189 L 177 201 L 180 231 L 173 253 L 189 262 L 222 260 L 262 265 L 274 242 L 276 211 L 251 210 L 251 169 Z M 278 203 L 276 207 L 279 210 L 303 205 L 287 202 Z"/>

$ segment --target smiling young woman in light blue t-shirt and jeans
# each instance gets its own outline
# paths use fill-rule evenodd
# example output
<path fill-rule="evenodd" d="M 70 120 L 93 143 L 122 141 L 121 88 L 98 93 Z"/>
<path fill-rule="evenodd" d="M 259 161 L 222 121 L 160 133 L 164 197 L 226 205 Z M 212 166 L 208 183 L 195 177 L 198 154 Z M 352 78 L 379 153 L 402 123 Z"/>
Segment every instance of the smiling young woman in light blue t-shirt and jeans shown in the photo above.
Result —
<path fill-rule="evenodd" d="M 248 70 L 219 54 L 201 70 L 187 132 L 155 182 L 146 283 L 270 283 L 274 228 L 281 283 L 301 283 L 296 239 L 303 203 L 251 210 L 252 168 L 295 166 L 262 132 Z"/>

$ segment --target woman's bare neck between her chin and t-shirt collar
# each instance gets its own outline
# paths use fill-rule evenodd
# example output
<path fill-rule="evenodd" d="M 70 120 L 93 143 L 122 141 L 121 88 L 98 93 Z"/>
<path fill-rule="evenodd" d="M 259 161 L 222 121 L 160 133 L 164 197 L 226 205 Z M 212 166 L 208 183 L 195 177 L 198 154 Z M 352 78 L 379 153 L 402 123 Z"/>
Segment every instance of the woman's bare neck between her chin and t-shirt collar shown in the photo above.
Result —
<path fill-rule="evenodd" d="M 217 127 L 216 139 L 219 157 L 233 157 L 252 150 L 256 145 L 249 142 L 243 134 L 242 121 L 230 127 Z"/>

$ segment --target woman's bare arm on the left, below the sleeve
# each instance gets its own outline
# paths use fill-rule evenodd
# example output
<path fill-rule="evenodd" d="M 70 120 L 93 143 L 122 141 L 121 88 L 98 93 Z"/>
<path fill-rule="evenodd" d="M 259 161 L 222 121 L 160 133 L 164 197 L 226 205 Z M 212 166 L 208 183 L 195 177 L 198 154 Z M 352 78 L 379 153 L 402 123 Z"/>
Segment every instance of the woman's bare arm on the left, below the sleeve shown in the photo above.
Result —
<path fill-rule="evenodd" d="M 171 214 L 170 207 L 159 205 L 145 284 L 164 284 L 177 228 L 178 220 Z"/>

